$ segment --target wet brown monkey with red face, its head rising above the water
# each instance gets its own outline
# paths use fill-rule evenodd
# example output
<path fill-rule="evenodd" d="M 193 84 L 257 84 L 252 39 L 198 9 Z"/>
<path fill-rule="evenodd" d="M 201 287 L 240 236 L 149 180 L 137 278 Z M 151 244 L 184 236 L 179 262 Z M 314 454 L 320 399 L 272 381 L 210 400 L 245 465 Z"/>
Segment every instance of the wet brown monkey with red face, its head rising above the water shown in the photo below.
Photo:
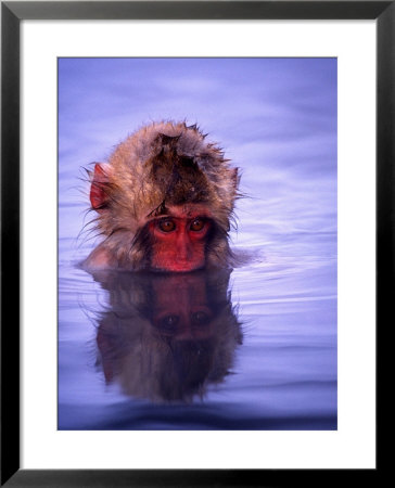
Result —
<path fill-rule="evenodd" d="M 238 168 L 196 126 L 160 123 L 118 144 L 89 171 L 103 242 L 89 270 L 193 271 L 230 264 Z"/>

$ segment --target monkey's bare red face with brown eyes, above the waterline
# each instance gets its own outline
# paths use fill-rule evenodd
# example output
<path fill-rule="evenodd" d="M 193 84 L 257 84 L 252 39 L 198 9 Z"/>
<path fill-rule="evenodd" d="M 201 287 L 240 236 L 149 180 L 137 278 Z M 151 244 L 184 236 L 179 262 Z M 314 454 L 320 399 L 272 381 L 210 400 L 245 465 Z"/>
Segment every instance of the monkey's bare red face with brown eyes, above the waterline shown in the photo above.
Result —
<path fill-rule="evenodd" d="M 193 271 L 204 268 L 212 221 L 200 208 L 173 207 L 150 222 L 153 236 L 151 266 L 163 271 Z"/>

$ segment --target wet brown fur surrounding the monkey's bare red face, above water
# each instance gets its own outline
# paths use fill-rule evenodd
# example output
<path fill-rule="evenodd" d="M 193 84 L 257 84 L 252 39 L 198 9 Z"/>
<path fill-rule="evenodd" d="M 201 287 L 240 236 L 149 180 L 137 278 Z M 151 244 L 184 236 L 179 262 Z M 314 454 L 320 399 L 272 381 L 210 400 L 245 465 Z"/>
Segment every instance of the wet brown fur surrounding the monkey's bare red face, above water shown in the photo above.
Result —
<path fill-rule="evenodd" d="M 209 209 L 215 222 L 207 266 L 226 264 L 238 169 L 205 137 L 196 126 L 184 123 L 151 124 L 118 144 L 106 164 L 95 165 L 90 172 L 90 200 L 113 264 L 145 268 L 146 223 L 167 208 L 188 211 L 191 205 Z"/>

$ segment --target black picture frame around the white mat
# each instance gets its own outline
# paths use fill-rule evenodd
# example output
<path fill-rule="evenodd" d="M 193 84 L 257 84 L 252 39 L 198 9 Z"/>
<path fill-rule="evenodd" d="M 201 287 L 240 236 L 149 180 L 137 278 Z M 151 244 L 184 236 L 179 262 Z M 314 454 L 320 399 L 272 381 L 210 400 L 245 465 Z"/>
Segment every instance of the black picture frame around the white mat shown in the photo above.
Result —
<path fill-rule="evenodd" d="M 317 486 L 339 475 L 355 481 L 357 474 L 377 485 L 383 470 L 379 415 L 375 470 L 20 470 L 20 24 L 117 18 L 375 20 L 378 344 L 379 330 L 394 316 L 395 1 L 1 2 L 1 486 Z M 379 373 L 377 381 L 380 399 Z"/>

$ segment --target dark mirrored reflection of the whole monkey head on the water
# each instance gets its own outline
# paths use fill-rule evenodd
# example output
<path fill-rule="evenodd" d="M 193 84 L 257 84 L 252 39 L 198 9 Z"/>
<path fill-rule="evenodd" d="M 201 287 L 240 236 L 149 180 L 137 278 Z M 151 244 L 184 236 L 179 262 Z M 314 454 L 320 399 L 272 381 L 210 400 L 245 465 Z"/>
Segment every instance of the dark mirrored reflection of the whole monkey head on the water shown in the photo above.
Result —
<path fill-rule="evenodd" d="M 229 274 L 98 271 L 110 292 L 97 333 L 106 383 L 153 401 L 190 401 L 222 382 L 242 338 Z"/>

